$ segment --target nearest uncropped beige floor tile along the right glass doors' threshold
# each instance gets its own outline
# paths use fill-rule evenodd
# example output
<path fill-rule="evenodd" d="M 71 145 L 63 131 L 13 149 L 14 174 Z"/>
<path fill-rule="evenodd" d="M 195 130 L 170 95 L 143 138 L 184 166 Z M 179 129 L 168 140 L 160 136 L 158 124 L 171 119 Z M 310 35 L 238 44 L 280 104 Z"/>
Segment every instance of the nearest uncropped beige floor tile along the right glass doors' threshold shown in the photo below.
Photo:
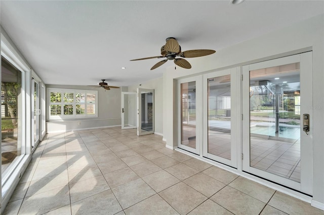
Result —
<path fill-rule="evenodd" d="M 229 186 L 248 194 L 264 203 L 267 203 L 269 199 L 272 197 L 275 190 L 263 186 L 259 183 L 251 181 L 249 179 L 238 177 L 234 181 L 232 181 Z"/>

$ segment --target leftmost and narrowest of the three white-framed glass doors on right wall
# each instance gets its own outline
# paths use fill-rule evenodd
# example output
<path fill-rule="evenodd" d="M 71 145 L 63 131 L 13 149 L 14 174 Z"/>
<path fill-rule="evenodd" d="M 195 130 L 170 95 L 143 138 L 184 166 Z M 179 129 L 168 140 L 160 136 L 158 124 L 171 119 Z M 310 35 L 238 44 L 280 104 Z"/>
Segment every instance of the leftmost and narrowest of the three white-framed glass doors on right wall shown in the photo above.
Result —
<path fill-rule="evenodd" d="M 178 81 L 178 147 L 200 155 L 202 115 L 201 76 Z"/>

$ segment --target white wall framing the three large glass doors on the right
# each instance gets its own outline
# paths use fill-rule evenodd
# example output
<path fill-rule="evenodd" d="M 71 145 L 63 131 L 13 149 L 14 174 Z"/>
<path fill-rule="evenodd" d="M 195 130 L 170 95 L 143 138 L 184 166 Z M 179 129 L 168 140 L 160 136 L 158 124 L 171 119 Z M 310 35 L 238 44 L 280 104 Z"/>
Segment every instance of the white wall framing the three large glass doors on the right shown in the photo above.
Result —
<path fill-rule="evenodd" d="M 324 17 L 296 23 L 231 47 L 214 55 L 190 59 L 192 69 L 169 67 L 163 76 L 164 138 L 169 147 L 177 146 L 177 79 L 225 68 L 248 65 L 312 50 L 313 54 L 313 202 L 324 208 Z M 239 36 L 239 35 L 238 35 Z M 215 37 L 217 39 L 217 37 Z M 311 72 L 311 71 L 309 71 Z M 317 108 L 316 108 L 317 107 Z"/>

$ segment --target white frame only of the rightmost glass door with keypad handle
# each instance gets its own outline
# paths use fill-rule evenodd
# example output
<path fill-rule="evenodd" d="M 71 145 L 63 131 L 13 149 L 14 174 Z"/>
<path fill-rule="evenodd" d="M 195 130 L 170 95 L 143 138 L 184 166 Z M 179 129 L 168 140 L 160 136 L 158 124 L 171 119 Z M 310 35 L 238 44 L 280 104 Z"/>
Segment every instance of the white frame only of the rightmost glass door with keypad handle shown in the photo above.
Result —
<path fill-rule="evenodd" d="M 310 115 L 310 131 L 308 135 L 303 132 L 301 119 L 301 178 L 300 183 L 280 177 L 253 167 L 250 167 L 250 76 L 251 70 L 287 65 L 300 62 L 300 83 L 301 83 L 301 113 Z M 299 55 L 289 56 L 251 64 L 242 67 L 242 170 L 262 178 L 266 178 L 275 183 L 290 187 L 303 193 L 312 194 L 312 52 L 301 53 Z M 307 105 L 308 104 L 308 108 Z"/>

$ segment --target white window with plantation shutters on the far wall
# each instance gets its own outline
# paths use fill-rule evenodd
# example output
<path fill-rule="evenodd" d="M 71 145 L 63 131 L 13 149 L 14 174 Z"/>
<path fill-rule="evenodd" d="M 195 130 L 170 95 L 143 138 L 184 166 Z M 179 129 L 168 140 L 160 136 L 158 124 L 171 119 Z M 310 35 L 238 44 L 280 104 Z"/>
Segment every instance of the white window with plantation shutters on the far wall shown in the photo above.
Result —
<path fill-rule="evenodd" d="M 49 119 L 97 117 L 95 90 L 48 88 Z"/>

